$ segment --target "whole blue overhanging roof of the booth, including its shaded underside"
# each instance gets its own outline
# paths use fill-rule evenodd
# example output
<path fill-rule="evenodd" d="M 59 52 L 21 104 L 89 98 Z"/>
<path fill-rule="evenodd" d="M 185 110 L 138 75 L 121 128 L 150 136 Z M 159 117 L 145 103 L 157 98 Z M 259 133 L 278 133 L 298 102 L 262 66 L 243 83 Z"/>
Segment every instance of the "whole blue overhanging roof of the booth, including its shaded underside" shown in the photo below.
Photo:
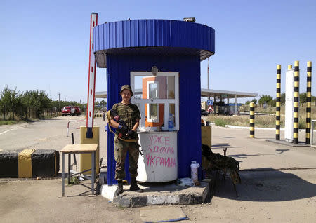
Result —
<path fill-rule="evenodd" d="M 215 31 L 195 22 L 126 20 L 93 29 L 98 67 L 106 67 L 106 54 L 200 55 L 215 53 Z"/>

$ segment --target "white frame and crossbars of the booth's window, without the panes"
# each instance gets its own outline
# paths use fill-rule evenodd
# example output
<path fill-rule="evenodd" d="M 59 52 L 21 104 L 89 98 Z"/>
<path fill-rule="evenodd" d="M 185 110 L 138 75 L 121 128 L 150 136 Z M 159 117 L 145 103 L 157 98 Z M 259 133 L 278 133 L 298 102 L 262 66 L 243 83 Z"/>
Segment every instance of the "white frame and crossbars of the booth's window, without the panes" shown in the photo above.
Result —
<path fill-rule="evenodd" d="M 135 94 L 135 77 L 136 76 L 154 76 L 152 72 L 131 72 L 131 88 Z M 173 130 L 179 130 L 179 73 L 178 72 L 157 72 L 157 76 L 174 76 L 174 99 L 138 99 L 133 95 L 131 103 L 140 104 L 140 127 L 145 128 L 145 104 L 164 104 L 164 126 L 162 130 L 168 130 L 168 118 L 170 104 L 175 104 L 175 126 Z M 159 84 L 159 83 L 158 83 Z M 168 89 L 168 88 L 167 88 Z M 168 95 L 168 94 L 167 94 Z M 167 96 L 168 97 L 168 96 Z M 148 106 L 149 107 L 149 106 Z M 149 120 L 149 119 L 148 119 Z M 150 130 L 157 130 L 157 127 L 147 127 Z"/>

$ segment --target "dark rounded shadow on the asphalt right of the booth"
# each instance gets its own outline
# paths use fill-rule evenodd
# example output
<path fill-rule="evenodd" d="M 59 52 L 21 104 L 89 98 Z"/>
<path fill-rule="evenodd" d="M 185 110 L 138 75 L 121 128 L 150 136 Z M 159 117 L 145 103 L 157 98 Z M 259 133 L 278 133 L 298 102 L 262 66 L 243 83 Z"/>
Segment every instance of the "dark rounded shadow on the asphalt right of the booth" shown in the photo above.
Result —
<path fill-rule="evenodd" d="M 235 194 L 230 177 L 216 180 L 215 196 L 239 201 L 293 201 L 316 196 L 316 184 L 312 184 L 292 173 L 273 168 L 267 171 L 239 172 L 242 184 L 237 184 Z"/>

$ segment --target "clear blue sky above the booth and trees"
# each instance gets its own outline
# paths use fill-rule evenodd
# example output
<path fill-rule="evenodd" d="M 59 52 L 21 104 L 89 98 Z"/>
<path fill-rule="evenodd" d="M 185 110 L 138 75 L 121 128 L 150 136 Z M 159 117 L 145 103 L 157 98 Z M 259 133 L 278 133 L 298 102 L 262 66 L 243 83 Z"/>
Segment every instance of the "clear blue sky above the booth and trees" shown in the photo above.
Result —
<path fill-rule="evenodd" d="M 0 1 L 0 90 L 44 90 L 53 100 L 85 103 L 88 95 L 90 15 L 98 25 L 133 19 L 183 20 L 215 29 L 209 88 L 276 95 L 276 67 L 316 65 L 316 1 Z M 314 69 L 315 70 L 315 69 Z M 314 72 L 315 73 L 315 72 Z M 316 95 L 312 77 L 312 95 Z M 207 60 L 201 62 L 207 88 Z M 96 70 L 96 91 L 107 90 L 106 69 Z M 257 97 L 258 98 L 258 97 Z M 252 100 L 247 98 L 245 100 Z M 245 100 L 238 100 L 244 102 Z"/>

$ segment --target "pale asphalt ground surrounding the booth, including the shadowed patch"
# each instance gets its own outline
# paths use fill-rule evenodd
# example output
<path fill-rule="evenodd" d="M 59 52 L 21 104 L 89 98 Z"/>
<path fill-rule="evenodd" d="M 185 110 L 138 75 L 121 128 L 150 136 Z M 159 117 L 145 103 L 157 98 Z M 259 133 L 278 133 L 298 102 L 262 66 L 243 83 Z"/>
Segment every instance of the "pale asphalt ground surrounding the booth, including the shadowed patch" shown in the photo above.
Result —
<path fill-rule="evenodd" d="M 68 120 L 76 119 L 84 116 L 0 126 L 0 149 L 60 150 L 71 143 Z M 100 126 L 100 157 L 106 157 L 105 121 L 96 118 L 95 123 Z M 73 132 L 79 143 L 79 130 Z M 190 219 L 185 222 L 315 222 L 316 149 L 266 142 L 275 138 L 275 130 L 256 130 L 255 137 L 249 138 L 248 129 L 212 127 L 212 143 L 228 144 L 227 155 L 240 163 L 239 196 L 229 177 L 219 179 L 211 203 L 178 205 Z M 222 149 L 213 152 L 223 154 Z M 60 179 L 0 180 L 1 222 L 140 222 L 140 210 L 159 208 L 119 208 L 101 196 L 78 196 L 84 187 L 66 190 L 72 196 L 60 198 Z"/>

